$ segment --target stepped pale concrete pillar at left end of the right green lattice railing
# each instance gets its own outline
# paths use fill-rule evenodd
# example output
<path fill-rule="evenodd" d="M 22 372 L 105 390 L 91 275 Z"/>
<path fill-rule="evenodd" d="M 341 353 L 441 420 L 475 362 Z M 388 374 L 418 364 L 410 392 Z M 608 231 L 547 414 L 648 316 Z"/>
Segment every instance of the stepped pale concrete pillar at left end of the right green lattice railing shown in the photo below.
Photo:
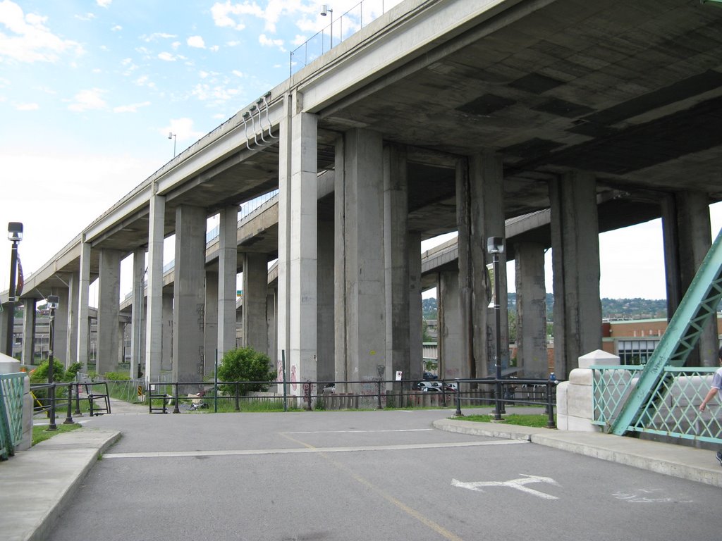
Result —
<path fill-rule="evenodd" d="M 619 356 L 597 349 L 578 358 L 578 368 L 557 385 L 557 427 L 560 430 L 601 432 L 594 418 L 591 366 L 618 366 Z"/>

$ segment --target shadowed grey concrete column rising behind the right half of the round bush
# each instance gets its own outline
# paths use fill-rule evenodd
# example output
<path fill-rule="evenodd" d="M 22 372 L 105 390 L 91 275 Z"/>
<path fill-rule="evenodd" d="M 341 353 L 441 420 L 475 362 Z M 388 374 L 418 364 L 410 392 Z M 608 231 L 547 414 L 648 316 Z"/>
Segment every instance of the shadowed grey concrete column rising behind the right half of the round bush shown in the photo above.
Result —
<path fill-rule="evenodd" d="M 256 351 L 268 350 L 268 274 L 266 254 L 243 254 L 243 343 Z"/>

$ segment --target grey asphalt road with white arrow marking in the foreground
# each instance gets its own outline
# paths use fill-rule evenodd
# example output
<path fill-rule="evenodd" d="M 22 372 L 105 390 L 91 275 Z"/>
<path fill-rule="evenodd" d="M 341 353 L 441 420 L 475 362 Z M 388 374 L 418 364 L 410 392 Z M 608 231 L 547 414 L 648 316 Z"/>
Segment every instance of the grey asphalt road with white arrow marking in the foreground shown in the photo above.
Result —
<path fill-rule="evenodd" d="M 718 488 L 431 428 L 449 410 L 107 415 L 51 541 L 717 539 Z"/>

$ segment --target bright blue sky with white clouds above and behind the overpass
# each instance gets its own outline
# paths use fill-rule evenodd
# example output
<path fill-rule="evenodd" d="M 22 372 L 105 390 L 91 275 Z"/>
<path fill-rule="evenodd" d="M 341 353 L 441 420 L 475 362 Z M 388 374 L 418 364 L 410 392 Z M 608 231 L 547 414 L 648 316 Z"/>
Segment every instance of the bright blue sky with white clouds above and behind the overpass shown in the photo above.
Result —
<path fill-rule="evenodd" d="M 398 2 L 364 0 L 363 24 Z M 329 4 L 334 43 L 357 30 L 357 4 Z M 328 50 L 331 17 L 320 12 L 308 0 L 0 0 L 0 227 L 24 224 L 25 276 L 299 59 Z M 713 237 L 721 226 L 715 205 Z M 600 246 L 601 296 L 664 298 L 658 220 L 602 234 Z"/>

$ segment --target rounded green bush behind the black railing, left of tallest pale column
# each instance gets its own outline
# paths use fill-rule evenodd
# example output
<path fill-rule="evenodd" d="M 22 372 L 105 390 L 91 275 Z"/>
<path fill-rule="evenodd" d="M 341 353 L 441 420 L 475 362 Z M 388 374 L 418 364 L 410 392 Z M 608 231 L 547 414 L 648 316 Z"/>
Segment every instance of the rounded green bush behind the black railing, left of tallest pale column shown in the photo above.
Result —
<path fill-rule="evenodd" d="M 251 391 L 265 391 L 268 382 L 276 379 L 276 371 L 266 353 L 253 348 L 236 348 L 223 355 L 218 366 L 218 377 L 224 382 L 252 382 L 239 386 L 240 394 Z M 219 385 L 225 395 L 235 395 L 235 385 Z"/>

